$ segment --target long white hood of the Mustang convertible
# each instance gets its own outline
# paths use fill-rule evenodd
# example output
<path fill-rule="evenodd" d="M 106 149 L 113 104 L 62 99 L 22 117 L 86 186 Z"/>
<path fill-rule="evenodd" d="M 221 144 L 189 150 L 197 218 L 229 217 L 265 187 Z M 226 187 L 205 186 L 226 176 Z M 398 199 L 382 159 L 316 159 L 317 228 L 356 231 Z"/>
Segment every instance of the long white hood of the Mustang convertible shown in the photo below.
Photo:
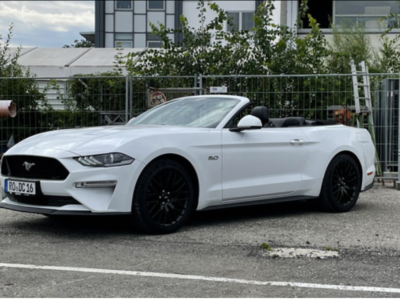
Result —
<path fill-rule="evenodd" d="M 204 130 L 209 129 L 139 125 L 56 130 L 37 134 L 21 141 L 7 151 L 7 155 L 32 154 L 40 152 L 38 149 L 63 150 L 77 155 L 109 153 L 134 139 Z"/>

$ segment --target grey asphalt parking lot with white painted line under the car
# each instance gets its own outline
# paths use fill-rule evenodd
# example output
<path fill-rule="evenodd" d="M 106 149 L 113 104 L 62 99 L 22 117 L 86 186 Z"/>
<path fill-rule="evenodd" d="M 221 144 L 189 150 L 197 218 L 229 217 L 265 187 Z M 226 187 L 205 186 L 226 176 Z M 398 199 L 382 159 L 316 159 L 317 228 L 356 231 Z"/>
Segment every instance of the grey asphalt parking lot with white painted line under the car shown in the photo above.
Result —
<path fill-rule="evenodd" d="M 125 217 L 0 210 L 0 297 L 399 297 L 399 216 L 391 183 L 345 214 L 304 202 L 217 210 L 165 236 Z M 303 256 L 316 250 L 337 257 Z"/>

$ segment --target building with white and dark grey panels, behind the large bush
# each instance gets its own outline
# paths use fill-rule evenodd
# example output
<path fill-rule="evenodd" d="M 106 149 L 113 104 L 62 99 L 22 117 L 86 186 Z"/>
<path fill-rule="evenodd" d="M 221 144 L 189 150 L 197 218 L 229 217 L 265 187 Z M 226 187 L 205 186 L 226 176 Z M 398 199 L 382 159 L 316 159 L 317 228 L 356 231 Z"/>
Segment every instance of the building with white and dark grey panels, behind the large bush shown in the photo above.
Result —
<path fill-rule="evenodd" d="M 208 2 L 208 1 L 205 1 Z M 232 14 L 239 29 L 253 26 L 253 14 L 262 0 L 213 1 Z M 151 33 L 150 23 L 162 24 L 177 29 L 180 16 L 187 17 L 189 25 L 198 26 L 197 0 L 134 0 L 96 1 L 95 4 L 95 46 L 99 48 L 158 48 L 162 43 Z M 208 10 L 207 19 L 213 13 Z M 278 21 L 278 19 L 277 19 Z M 226 28 L 229 30 L 229 28 Z M 179 42 L 182 35 L 171 34 Z"/>

